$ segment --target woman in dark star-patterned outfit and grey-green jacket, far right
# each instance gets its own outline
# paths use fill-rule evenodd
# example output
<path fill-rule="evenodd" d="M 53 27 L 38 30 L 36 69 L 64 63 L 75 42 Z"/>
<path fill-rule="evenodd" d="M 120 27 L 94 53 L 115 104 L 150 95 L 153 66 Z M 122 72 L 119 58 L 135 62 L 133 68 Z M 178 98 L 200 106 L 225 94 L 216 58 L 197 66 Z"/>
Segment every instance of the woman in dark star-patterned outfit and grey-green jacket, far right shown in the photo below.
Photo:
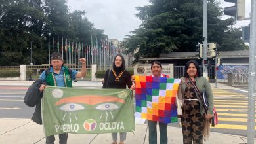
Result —
<path fill-rule="evenodd" d="M 186 63 L 184 77 L 181 80 L 181 92 L 184 98 L 181 117 L 183 143 L 200 144 L 203 143 L 203 122 L 213 117 L 213 93 L 211 86 L 207 79 L 202 77 L 199 65 L 194 60 Z M 192 82 L 194 82 L 201 95 L 205 92 L 207 96 L 209 102 L 207 113 L 203 109 L 203 103 Z"/>

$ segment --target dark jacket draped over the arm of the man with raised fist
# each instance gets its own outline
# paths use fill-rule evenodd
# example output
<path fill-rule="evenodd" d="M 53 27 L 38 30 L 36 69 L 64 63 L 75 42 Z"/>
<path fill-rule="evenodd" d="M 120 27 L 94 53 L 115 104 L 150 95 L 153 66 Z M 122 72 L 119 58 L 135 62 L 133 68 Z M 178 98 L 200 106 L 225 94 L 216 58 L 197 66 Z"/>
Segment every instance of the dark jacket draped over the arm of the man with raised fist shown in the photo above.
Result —
<path fill-rule="evenodd" d="M 33 84 L 28 88 L 28 92 L 24 98 L 24 103 L 29 107 L 35 107 L 35 112 L 33 113 L 32 120 L 37 124 L 42 124 L 41 118 L 41 99 L 43 97 L 43 92 L 40 92 L 39 88 L 41 84 L 45 84 L 45 81 L 37 79 Z"/>

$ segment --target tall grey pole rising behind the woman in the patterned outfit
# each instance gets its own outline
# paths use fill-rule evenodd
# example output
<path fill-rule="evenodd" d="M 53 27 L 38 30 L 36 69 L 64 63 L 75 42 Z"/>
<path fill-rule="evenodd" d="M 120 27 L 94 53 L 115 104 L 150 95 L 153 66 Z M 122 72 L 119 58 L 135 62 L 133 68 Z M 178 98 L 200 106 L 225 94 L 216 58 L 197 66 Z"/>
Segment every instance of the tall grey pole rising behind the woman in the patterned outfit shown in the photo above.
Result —
<path fill-rule="evenodd" d="M 208 43 L 208 21 L 207 21 L 207 0 L 203 0 L 203 61 L 207 60 L 207 43 Z M 207 66 L 203 62 L 203 77 L 208 79 Z"/>

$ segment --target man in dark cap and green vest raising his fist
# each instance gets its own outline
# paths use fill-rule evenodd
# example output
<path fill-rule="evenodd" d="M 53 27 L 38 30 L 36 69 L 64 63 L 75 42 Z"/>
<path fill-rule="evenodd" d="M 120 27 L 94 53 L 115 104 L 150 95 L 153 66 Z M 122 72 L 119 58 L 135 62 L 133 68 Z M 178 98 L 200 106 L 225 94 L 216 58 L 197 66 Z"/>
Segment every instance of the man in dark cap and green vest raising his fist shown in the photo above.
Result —
<path fill-rule="evenodd" d="M 79 77 L 85 77 L 86 75 L 86 60 L 85 58 L 80 58 L 82 68 L 81 71 L 75 71 L 68 69 L 63 66 L 62 55 L 58 52 L 51 54 L 51 66 L 46 71 L 41 73 L 39 79 L 46 81 L 49 86 L 60 86 L 60 87 L 72 87 L 72 79 Z M 39 90 L 43 92 L 45 89 L 45 84 L 41 84 Z M 66 144 L 68 139 L 68 134 L 59 134 L 60 144 Z M 47 144 L 53 144 L 55 141 L 54 135 L 46 137 Z"/>

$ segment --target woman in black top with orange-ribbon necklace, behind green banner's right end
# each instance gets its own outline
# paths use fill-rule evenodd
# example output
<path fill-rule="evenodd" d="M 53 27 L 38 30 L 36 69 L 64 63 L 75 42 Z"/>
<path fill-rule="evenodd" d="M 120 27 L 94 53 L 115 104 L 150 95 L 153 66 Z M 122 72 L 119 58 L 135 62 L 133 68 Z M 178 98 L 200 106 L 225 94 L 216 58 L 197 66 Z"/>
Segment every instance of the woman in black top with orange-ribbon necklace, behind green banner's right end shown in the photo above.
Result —
<path fill-rule="evenodd" d="M 105 73 L 103 88 L 123 88 L 126 86 L 131 90 L 135 89 L 135 85 L 131 81 L 131 74 L 125 70 L 125 59 L 121 54 L 114 57 L 113 68 L 108 69 Z M 112 133 L 112 144 L 117 144 L 117 133 Z M 124 144 L 126 132 L 120 132 L 120 144 Z"/>

